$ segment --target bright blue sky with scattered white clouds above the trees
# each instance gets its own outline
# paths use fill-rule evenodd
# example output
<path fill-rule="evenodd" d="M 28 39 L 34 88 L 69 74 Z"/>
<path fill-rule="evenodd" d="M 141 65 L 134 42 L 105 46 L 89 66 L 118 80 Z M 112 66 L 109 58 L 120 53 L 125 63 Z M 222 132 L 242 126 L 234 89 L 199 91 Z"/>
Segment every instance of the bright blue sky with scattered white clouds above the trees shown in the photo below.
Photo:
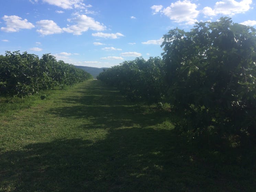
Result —
<path fill-rule="evenodd" d="M 197 21 L 256 26 L 256 0 L 1 0 L 0 54 L 51 53 L 66 63 L 111 67 L 160 56 L 162 36 Z M 255 8 L 254 8 L 255 7 Z"/>

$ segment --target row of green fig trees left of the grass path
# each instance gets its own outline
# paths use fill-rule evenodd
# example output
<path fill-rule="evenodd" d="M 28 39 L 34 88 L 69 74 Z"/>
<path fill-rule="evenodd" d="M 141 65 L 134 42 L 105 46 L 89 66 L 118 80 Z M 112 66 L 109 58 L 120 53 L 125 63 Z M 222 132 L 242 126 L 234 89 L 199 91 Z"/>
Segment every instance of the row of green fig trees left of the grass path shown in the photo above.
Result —
<path fill-rule="evenodd" d="M 72 86 L 86 79 L 92 76 L 64 61 L 57 61 L 50 54 L 44 54 L 41 59 L 19 51 L 0 55 L 0 95 L 23 97 L 55 86 Z"/>

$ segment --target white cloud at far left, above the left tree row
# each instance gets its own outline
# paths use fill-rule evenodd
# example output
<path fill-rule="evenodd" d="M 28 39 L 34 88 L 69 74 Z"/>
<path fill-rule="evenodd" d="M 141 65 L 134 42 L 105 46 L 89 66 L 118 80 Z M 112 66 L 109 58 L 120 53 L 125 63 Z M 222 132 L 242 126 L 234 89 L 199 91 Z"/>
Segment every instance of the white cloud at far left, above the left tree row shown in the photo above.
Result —
<path fill-rule="evenodd" d="M 16 15 L 4 15 L 2 19 L 6 23 L 6 27 L 1 27 L 1 30 L 4 32 L 18 32 L 20 29 L 32 29 L 35 27 L 32 23 L 28 22 L 27 19 L 22 20 L 21 17 Z"/>

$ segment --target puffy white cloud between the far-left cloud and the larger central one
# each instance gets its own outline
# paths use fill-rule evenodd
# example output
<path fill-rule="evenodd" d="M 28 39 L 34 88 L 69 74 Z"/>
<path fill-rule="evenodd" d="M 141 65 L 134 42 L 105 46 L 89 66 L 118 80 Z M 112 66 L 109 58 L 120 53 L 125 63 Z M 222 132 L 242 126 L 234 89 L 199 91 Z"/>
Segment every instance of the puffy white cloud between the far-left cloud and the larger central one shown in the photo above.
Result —
<path fill-rule="evenodd" d="M 40 29 L 36 31 L 42 35 L 51 35 L 63 32 L 63 30 L 52 20 L 41 20 L 37 21 L 36 24 L 40 27 Z"/>

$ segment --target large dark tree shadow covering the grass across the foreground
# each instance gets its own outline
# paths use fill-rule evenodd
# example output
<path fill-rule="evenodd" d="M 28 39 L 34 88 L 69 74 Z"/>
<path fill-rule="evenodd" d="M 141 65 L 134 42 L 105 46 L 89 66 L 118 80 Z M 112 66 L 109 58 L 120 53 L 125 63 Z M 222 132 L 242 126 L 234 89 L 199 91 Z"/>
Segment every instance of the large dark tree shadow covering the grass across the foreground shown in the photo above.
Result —
<path fill-rule="evenodd" d="M 0 191 L 255 189 L 252 178 L 238 181 L 239 176 L 194 163 L 173 130 L 165 129 L 115 129 L 95 143 L 60 139 L 30 144 L 3 153 L 0 161 Z"/>

